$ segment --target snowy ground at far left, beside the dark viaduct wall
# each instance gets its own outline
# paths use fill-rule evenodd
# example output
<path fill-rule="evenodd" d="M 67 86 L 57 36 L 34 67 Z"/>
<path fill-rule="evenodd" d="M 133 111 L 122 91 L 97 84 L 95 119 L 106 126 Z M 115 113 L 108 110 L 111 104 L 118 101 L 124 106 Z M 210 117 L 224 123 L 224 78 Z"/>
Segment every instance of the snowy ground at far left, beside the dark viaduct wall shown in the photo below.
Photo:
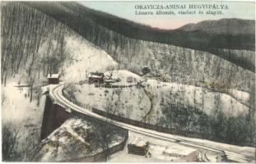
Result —
<path fill-rule="evenodd" d="M 16 160 L 30 161 L 40 141 L 45 95 L 40 96 L 40 104 L 37 98 L 30 102 L 27 87 L 16 87 L 16 79 L 12 79 L 7 86 L 1 86 L 2 96 L 2 126 L 7 126 L 13 133 L 18 128 L 16 142 L 18 153 L 21 157 Z M 44 88 L 42 89 L 44 91 Z M 2 134 L 4 135 L 4 134 Z M 25 149 L 25 153 L 22 153 Z"/>

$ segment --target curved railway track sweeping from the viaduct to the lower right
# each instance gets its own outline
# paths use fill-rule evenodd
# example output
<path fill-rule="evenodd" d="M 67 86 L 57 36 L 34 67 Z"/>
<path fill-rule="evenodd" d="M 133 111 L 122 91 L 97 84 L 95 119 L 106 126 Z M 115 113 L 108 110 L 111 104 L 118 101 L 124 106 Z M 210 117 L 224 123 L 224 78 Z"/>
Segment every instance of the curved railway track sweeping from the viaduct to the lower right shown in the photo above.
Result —
<path fill-rule="evenodd" d="M 232 153 L 230 151 L 222 150 L 220 148 L 212 148 L 210 146 L 202 145 L 193 143 L 186 139 L 179 139 L 175 136 L 172 136 L 171 134 L 164 134 L 161 132 L 157 132 L 154 130 L 147 130 L 141 127 L 137 127 L 134 125 L 129 125 L 120 121 L 114 121 L 110 120 L 109 118 L 105 116 L 101 116 L 96 114 L 95 112 L 91 112 L 91 107 L 80 107 L 77 106 L 75 103 L 70 102 L 67 100 L 67 98 L 63 97 L 62 90 L 65 84 L 59 84 L 58 86 L 55 86 L 53 89 L 50 89 L 49 91 L 49 97 L 54 101 L 54 103 L 60 105 L 61 107 L 65 108 L 67 112 L 76 111 L 81 114 L 84 114 L 86 116 L 91 116 L 95 119 L 98 119 L 100 121 L 109 122 L 110 124 L 117 125 L 119 127 L 122 127 L 123 129 L 133 131 L 137 134 L 143 134 L 147 135 L 154 139 L 161 139 L 165 141 L 175 142 L 177 144 L 181 144 L 190 148 L 198 148 L 206 151 L 210 151 L 212 153 L 217 153 L 222 157 L 222 160 L 226 160 L 229 162 L 251 162 L 253 161 L 252 157 L 247 157 L 243 154 L 238 153 Z"/>

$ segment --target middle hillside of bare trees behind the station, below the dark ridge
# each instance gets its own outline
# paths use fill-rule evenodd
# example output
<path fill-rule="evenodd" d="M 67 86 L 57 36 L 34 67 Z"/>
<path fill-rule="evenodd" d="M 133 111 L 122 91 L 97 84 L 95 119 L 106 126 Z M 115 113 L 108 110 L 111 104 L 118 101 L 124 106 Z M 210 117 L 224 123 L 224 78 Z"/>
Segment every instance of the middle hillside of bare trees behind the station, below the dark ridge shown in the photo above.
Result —
<path fill-rule="evenodd" d="M 169 80 L 175 82 L 184 84 L 196 83 L 198 85 L 204 84 L 205 80 L 210 80 L 215 83 L 223 83 L 224 88 L 232 87 L 247 92 L 250 90 L 250 84 L 254 83 L 254 73 L 252 72 L 254 71 L 254 63 L 251 62 L 252 57 L 247 55 L 247 52 L 244 52 L 245 55 L 239 56 L 232 55 L 233 53 L 236 54 L 236 50 L 224 51 L 222 49 L 215 49 L 218 55 L 216 56 L 209 52 L 145 41 L 150 39 L 142 40 L 142 37 L 154 35 L 153 30 L 148 31 L 150 34 L 137 33 L 137 37 L 141 36 L 140 39 L 137 39 L 137 37 L 128 38 L 127 34 L 125 35 L 120 33 L 119 30 L 113 30 L 111 27 L 103 25 L 105 21 L 100 19 L 103 15 L 101 12 L 98 14 L 99 16 L 95 15 L 95 11 L 81 7 L 77 3 L 28 2 L 26 4 L 63 22 L 64 25 L 77 31 L 78 34 L 81 34 L 91 43 L 104 49 L 115 61 L 119 62 L 121 69 L 128 69 L 138 74 L 141 72 L 142 66 L 149 66 L 152 76 L 167 75 Z M 112 21 L 108 22 L 108 25 L 112 25 Z M 120 25 L 117 25 L 116 28 L 123 27 L 121 25 L 122 22 L 120 21 Z M 127 31 L 133 34 L 133 28 Z M 161 37 L 161 34 L 159 36 Z M 176 37 L 168 35 L 169 38 L 176 41 L 179 41 L 179 39 L 184 40 L 182 36 L 182 34 Z M 191 34 L 185 34 L 185 36 L 185 40 L 193 38 Z M 157 41 L 157 39 L 153 40 Z M 239 39 L 230 40 L 240 42 L 242 38 L 239 36 Z M 192 41 L 189 42 L 194 43 Z M 206 42 L 205 39 L 202 40 L 202 43 L 204 42 Z M 202 43 L 197 43 L 197 45 L 203 47 Z M 221 41 L 215 40 L 215 43 L 221 43 Z M 250 42 L 246 41 L 246 43 Z M 224 45 L 224 43 L 222 44 Z M 234 58 L 228 61 L 223 60 L 226 57 L 236 57 L 237 62 L 232 61 Z M 244 61 L 249 61 L 249 63 Z M 250 66 L 252 69 L 249 70 L 251 71 L 244 67 L 245 65 Z"/>

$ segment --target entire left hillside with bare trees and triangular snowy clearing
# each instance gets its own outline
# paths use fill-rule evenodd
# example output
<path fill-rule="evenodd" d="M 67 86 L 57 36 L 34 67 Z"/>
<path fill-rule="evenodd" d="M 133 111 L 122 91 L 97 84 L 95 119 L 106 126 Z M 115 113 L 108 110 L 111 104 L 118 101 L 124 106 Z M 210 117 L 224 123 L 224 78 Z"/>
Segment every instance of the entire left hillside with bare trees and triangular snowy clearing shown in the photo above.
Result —
<path fill-rule="evenodd" d="M 31 83 L 31 79 L 39 83 L 50 72 L 78 80 L 74 75 L 84 79 L 90 71 L 106 71 L 118 65 L 105 51 L 34 8 L 6 2 L 1 12 L 2 84 L 16 75 L 21 84 Z"/>

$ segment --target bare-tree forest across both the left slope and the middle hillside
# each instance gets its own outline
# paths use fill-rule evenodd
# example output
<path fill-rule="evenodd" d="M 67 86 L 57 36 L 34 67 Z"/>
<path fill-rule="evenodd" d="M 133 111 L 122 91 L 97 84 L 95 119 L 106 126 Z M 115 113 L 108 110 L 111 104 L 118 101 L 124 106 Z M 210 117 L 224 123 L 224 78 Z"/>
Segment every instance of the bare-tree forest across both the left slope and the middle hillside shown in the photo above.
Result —
<path fill-rule="evenodd" d="M 46 4 L 45 7 L 49 6 Z M 23 14 L 16 16 L 19 12 Z M 71 16 L 63 15 L 58 18 L 69 25 L 72 16 L 77 14 L 74 13 L 76 12 L 70 11 Z M 250 90 L 250 84 L 254 82 L 253 72 L 208 52 L 130 39 L 90 19 L 82 22 L 73 30 L 108 52 L 119 62 L 120 69 L 140 73 L 142 66 L 150 66 L 153 76 L 166 74 L 170 80 L 183 84 L 193 84 L 194 79 L 198 84 L 204 84 L 200 81 L 206 79 L 247 92 Z M 60 71 L 67 56 L 64 36 L 72 33 L 67 26 L 54 21 L 40 11 L 27 7 L 26 4 L 17 2 L 2 6 L 2 25 L 5 27 L 2 28 L 2 38 L 6 40 L 2 43 L 2 83 L 6 83 L 7 77 L 16 75 L 20 67 L 26 68 L 27 76 L 33 71 L 37 72 L 36 77 L 40 78 L 45 77 L 49 72 Z M 17 41 L 15 44 L 12 43 L 14 40 Z M 249 51 L 221 49 L 217 51 L 222 56 L 237 56 L 240 62 L 252 61 Z M 10 62 L 16 64 L 10 66 L 7 64 Z M 160 65 L 156 64 L 157 62 Z"/>

